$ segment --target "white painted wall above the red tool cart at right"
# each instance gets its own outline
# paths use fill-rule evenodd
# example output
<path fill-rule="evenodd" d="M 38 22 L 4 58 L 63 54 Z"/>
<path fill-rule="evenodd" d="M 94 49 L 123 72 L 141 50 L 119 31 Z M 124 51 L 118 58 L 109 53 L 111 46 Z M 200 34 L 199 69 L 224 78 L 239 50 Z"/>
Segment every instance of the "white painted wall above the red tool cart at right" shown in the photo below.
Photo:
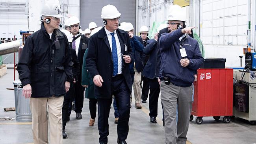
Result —
<path fill-rule="evenodd" d="M 238 56 L 247 45 L 247 0 L 201 2 L 200 37 L 205 57 L 226 58 L 226 66 L 240 66 Z"/>

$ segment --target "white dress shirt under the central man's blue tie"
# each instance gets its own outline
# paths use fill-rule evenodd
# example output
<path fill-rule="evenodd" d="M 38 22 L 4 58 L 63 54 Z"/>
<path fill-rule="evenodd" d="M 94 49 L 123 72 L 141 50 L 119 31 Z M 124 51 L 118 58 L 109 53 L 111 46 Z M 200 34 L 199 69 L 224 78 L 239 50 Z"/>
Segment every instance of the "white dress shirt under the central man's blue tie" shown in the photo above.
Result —
<path fill-rule="evenodd" d="M 107 36 L 108 36 L 108 42 L 109 42 L 109 45 L 110 45 L 110 48 L 111 48 L 111 52 L 112 52 L 112 35 L 110 33 L 112 33 L 111 31 L 108 31 L 105 28 L 105 31 L 107 33 Z M 117 57 L 118 57 L 118 72 L 117 74 L 122 74 L 122 53 L 121 53 L 121 45 L 120 45 L 120 42 L 119 42 L 119 39 L 118 39 L 118 36 L 117 36 L 117 31 L 113 31 L 114 34 L 114 37 L 115 37 L 115 42 L 117 44 Z"/>

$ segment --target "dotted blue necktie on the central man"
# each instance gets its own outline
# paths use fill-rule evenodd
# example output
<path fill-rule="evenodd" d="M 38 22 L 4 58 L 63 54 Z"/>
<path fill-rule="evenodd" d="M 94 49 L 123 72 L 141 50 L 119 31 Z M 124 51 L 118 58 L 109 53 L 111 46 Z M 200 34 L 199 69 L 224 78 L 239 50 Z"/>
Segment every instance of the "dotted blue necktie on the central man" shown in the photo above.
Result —
<path fill-rule="evenodd" d="M 113 76 L 117 75 L 118 72 L 118 57 L 117 57 L 117 43 L 115 42 L 115 33 L 110 33 L 112 35 L 112 57 L 113 57 Z"/>

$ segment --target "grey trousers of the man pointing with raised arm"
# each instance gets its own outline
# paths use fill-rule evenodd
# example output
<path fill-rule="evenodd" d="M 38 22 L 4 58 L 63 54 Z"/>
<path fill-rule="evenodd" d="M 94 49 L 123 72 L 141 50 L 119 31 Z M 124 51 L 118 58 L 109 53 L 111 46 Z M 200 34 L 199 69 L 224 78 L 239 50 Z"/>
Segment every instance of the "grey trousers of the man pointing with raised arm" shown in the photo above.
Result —
<path fill-rule="evenodd" d="M 164 81 L 160 84 L 161 101 L 165 114 L 165 144 L 186 144 L 189 117 L 192 109 L 193 85 L 178 87 Z M 178 104 L 178 123 L 177 122 Z"/>

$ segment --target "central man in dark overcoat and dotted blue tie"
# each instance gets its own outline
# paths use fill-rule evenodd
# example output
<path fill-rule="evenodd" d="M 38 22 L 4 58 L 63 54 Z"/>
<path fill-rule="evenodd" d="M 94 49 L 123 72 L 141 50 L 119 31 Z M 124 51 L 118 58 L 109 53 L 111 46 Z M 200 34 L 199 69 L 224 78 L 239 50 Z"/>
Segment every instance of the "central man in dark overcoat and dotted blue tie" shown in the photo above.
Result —
<path fill-rule="evenodd" d="M 105 26 L 90 37 L 86 65 L 95 84 L 98 100 L 98 130 L 100 144 L 108 143 L 108 117 L 115 96 L 119 110 L 117 143 L 126 144 L 130 117 L 132 78 L 129 63 L 133 59 L 130 38 L 126 31 L 118 29 L 121 13 L 115 6 L 102 8 L 101 18 Z"/>

